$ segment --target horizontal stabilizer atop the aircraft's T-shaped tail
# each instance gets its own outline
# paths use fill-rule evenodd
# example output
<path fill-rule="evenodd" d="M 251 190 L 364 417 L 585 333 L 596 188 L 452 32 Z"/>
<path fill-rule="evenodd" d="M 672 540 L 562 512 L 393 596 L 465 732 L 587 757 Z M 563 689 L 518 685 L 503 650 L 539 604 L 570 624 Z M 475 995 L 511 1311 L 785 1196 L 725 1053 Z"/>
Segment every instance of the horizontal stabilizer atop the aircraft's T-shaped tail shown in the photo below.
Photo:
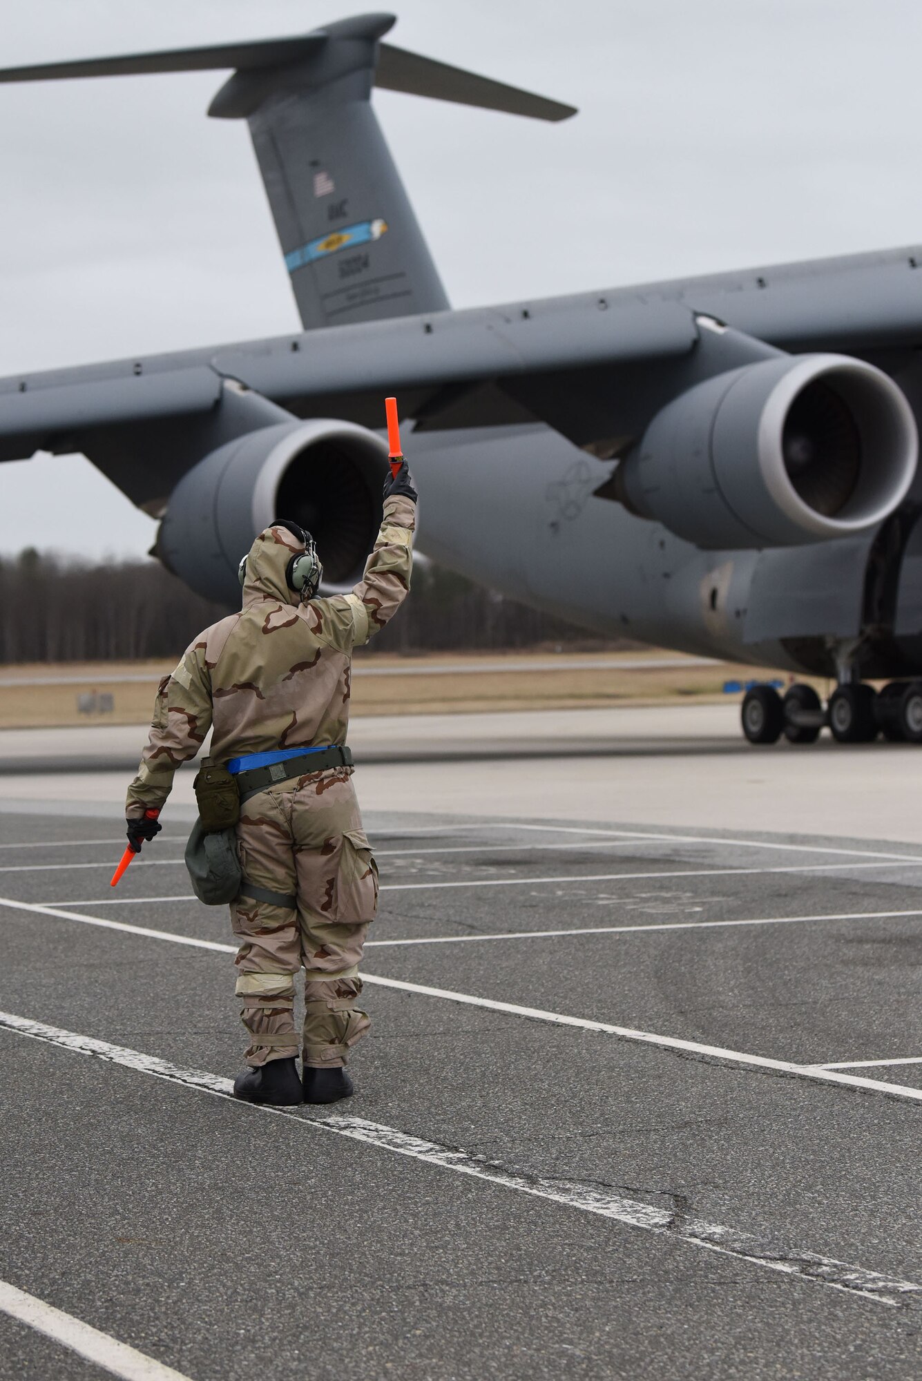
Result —
<path fill-rule="evenodd" d="M 166 52 L 138 52 L 113 58 L 83 58 L 76 62 L 48 62 L 28 68 L 0 69 L 0 83 L 58 81 L 69 77 L 146 76 L 155 72 L 208 72 L 235 69 L 264 72 L 293 68 L 317 57 L 331 40 L 380 37 L 395 23 L 389 14 L 360 15 L 341 19 L 290 39 L 257 39 L 251 43 L 225 43 L 204 48 L 175 48 Z M 530 116 L 536 120 L 566 120 L 576 106 L 549 101 L 519 87 L 493 81 L 490 77 L 453 68 L 418 52 L 407 52 L 389 43 L 378 46 L 374 84 L 388 91 L 424 95 L 457 105 Z"/>

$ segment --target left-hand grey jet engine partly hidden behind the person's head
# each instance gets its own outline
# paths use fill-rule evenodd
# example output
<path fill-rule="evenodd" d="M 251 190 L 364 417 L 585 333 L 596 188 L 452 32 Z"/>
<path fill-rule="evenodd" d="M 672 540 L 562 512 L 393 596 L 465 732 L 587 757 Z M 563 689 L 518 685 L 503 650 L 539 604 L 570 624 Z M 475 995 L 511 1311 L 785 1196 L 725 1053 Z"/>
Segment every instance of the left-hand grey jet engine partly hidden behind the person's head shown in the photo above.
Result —
<path fill-rule="evenodd" d="M 323 592 L 348 590 L 381 525 L 386 458 L 386 442 L 353 423 L 315 418 L 247 432 L 182 476 L 157 555 L 199 594 L 239 605 L 240 558 L 275 518 L 293 518 L 313 533 Z"/>

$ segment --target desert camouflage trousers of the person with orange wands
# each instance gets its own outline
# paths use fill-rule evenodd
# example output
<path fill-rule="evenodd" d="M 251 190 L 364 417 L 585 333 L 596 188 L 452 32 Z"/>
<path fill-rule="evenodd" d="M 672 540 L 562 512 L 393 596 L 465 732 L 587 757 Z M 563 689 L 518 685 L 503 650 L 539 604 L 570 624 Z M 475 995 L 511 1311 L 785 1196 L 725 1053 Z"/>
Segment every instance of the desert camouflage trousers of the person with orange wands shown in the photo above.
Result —
<path fill-rule="evenodd" d="M 345 1065 L 371 1025 L 356 1007 L 359 961 L 378 905 L 378 869 L 348 768 L 283 782 L 244 801 L 237 844 L 247 882 L 294 906 L 242 895 L 230 906 L 248 1065 L 298 1054 L 294 981 L 304 968 L 304 1063 Z"/>

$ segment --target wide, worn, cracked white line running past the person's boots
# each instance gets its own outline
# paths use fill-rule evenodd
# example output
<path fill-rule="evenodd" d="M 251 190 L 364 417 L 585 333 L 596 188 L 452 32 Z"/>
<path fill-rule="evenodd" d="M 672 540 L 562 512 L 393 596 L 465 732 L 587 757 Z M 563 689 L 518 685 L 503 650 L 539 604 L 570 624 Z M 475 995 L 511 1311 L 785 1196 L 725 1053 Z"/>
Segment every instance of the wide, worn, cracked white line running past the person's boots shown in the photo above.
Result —
<path fill-rule="evenodd" d="M 0 1027 L 17 1032 L 35 1040 L 63 1047 L 81 1055 L 94 1055 L 109 1063 L 123 1065 L 137 1073 L 153 1074 L 157 1079 L 168 1080 L 185 1088 L 196 1088 L 202 1092 L 217 1095 L 218 1098 L 233 1099 L 233 1084 L 229 1079 L 221 1079 L 206 1070 L 184 1069 L 171 1065 L 156 1055 L 145 1055 L 137 1050 L 127 1050 L 123 1045 L 112 1045 L 108 1041 L 95 1040 L 90 1036 L 79 1036 L 75 1032 L 61 1030 L 57 1026 L 47 1026 L 44 1022 L 29 1021 L 15 1016 L 11 1012 L 0 1012 Z M 905 1308 L 922 1297 L 922 1284 L 912 1280 L 901 1280 L 894 1276 L 881 1275 L 876 1271 L 867 1271 L 864 1266 L 850 1265 L 836 1261 L 832 1257 L 818 1255 L 813 1251 L 802 1251 L 778 1243 L 769 1243 L 754 1237 L 748 1232 L 737 1228 L 726 1228 L 720 1224 L 707 1222 L 703 1218 L 686 1215 L 680 1207 L 660 1208 L 646 1204 L 642 1200 L 625 1199 L 613 1189 L 598 1184 L 581 1184 L 578 1181 L 549 1179 L 541 1175 L 530 1175 L 512 1167 L 505 1167 L 498 1161 L 487 1160 L 483 1156 L 471 1155 L 454 1146 L 443 1146 L 439 1142 L 424 1141 L 413 1137 L 396 1127 L 386 1127 L 381 1123 L 369 1121 L 364 1117 L 348 1117 L 340 1113 L 308 1113 L 286 1108 L 265 1108 L 255 1103 L 239 1103 L 237 1108 L 271 1116 L 291 1117 L 301 1126 L 316 1127 L 323 1131 L 346 1137 L 380 1150 L 389 1150 L 398 1156 L 409 1156 L 436 1166 L 439 1170 L 449 1170 L 454 1174 L 469 1175 L 487 1184 L 500 1185 L 504 1189 L 515 1189 L 519 1193 L 534 1199 L 549 1200 L 566 1208 L 576 1208 L 581 1213 L 598 1214 L 602 1218 L 611 1218 L 628 1228 L 638 1228 L 657 1236 L 665 1236 L 693 1247 L 704 1247 L 726 1257 L 736 1257 L 748 1261 L 751 1265 L 765 1266 L 794 1279 L 828 1286 L 842 1290 L 863 1300 L 872 1300 L 875 1304 L 890 1308 Z M 119 1373 L 126 1374 L 126 1373 Z M 150 1373 L 153 1381 L 164 1373 Z M 164 1375 L 175 1377 L 177 1373 Z"/>

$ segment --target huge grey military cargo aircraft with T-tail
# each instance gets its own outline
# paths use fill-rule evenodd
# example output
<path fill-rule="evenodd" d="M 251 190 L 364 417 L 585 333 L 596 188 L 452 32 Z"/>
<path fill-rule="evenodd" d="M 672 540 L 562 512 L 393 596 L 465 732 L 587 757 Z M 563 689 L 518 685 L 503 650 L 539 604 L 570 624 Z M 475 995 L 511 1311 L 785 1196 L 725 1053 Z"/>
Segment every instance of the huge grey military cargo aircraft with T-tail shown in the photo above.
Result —
<path fill-rule="evenodd" d="M 396 392 L 438 561 L 599 632 L 835 681 L 827 704 L 752 686 L 754 743 L 922 742 L 922 250 L 451 311 L 373 86 L 576 112 L 393 23 L 0 72 L 232 70 L 208 113 L 250 127 L 304 326 L 0 380 L 0 460 L 83 452 L 228 603 L 254 534 L 295 518 L 333 591 L 377 530 Z"/>

